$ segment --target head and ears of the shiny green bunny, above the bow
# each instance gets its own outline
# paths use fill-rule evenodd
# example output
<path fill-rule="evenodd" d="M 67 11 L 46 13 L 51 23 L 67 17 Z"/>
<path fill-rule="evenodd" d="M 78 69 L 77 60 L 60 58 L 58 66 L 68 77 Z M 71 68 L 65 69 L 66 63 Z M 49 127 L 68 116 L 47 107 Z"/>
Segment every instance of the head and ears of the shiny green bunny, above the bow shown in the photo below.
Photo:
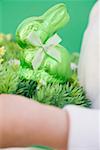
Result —
<path fill-rule="evenodd" d="M 33 47 L 28 41 L 31 32 L 37 32 L 42 42 L 63 27 L 69 21 L 69 15 L 63 3 L 51 7 L 39 17 L 25 19 L 17 28 L 16 39 L 22 48 Z"/>

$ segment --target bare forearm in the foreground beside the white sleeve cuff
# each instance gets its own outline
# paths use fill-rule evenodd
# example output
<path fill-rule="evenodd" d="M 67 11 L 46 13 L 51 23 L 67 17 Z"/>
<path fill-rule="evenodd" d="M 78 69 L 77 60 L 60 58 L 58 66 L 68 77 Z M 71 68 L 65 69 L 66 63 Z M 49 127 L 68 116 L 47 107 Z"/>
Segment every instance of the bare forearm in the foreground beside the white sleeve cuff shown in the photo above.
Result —
<path fill-rule="evenodd" d="M 45 145 L 66 150 L 69 116 L 62 109 L 15 95 L 0 95 L 0 147 Z"/>

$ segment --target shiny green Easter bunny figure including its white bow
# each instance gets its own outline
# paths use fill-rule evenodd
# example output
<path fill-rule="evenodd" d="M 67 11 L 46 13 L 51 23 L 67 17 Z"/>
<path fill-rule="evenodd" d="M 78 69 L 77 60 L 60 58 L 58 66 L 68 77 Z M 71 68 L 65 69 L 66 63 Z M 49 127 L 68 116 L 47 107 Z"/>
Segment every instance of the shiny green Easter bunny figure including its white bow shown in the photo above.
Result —
<path fill-rule="evenodd" d="M 42 16 L 28 18 L 19 25 L 17 41 L 25 48 L 23 60 L 29 66 L 28 69 L 22 67 L 25 78 L 59 83 L 70 78 L 70 54 L 59 44 L 61 38 L 54 34 L 68 20 L 65 5 L 57 4 Z M 33 71 L 36 72 L 35 78 Z"/>

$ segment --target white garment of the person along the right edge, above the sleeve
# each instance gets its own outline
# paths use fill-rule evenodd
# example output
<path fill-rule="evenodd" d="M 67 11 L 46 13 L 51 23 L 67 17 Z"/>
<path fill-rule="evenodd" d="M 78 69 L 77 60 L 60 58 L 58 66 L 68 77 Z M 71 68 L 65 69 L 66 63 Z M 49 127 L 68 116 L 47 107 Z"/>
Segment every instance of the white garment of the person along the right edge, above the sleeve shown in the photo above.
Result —
<path fill-rule="evenodd" d="M 78 77 L 92 101 L 93 108 L 100 108 L 100 1 L 93 7 L 88 27 L 83 37 L 78 67 Z"/>

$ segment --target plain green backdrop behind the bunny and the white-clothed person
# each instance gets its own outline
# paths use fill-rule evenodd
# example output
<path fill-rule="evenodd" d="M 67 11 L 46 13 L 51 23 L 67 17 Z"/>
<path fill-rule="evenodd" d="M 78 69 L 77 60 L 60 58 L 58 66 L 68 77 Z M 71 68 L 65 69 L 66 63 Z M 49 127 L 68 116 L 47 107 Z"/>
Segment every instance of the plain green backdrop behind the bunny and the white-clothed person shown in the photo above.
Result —
<path fill-rule="evenodd" d="M 19 23 L 30 16 L 42 15 L 49 7 L 64 2 L 70 22 L 58 33 L 70 51 L 80 51 L 89 12 L 96 0 L 0 0 L 0 32 L 13 33 Z"/>

